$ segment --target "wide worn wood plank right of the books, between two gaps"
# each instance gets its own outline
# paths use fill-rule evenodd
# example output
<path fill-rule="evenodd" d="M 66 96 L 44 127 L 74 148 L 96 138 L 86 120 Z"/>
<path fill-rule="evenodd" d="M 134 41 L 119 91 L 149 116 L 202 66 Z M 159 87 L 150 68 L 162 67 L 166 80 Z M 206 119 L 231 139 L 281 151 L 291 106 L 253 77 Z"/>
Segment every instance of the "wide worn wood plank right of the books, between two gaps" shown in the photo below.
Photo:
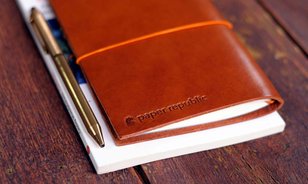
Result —
<path fill-rule="evenodd" d="M 307 183 L 308 61 L 253 0 L 213 0 L 285 100 L 283 133 L 142 165 L 150 182 Z"/>

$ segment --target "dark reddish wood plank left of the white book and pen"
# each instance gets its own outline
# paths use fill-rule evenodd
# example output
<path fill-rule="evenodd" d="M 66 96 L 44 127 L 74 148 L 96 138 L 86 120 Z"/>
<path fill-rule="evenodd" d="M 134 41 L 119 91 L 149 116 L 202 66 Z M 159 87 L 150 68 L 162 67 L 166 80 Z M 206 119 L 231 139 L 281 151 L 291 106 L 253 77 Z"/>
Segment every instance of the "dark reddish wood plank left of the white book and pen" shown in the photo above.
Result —
<path fill-rule="evenodd" d="M 0 182 L 140 183 L 95 173 L 14 1 L 0 17 Z"/>

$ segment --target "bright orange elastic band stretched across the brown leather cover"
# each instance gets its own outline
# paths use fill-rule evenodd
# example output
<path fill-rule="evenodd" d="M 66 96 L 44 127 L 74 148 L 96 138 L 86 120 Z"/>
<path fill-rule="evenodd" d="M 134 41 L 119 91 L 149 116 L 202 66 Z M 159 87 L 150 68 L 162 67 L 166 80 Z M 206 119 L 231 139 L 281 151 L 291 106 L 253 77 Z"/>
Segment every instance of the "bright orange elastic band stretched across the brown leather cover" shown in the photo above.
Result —
<path fill-rule="evenodd" d="M 156 33 L 151 33 L 151 34 L 148 34 L 148 35 L 133 38 L 131 40 L 126 40 L 126 41 L 123 41 L 123 42 L 120 42 L 120 43 L 117 43 L 117 44 L 113 44 L 113 45 L 110 45 L 110 46 L 107 46 L 107 47 L 104 47 L 104 48 L 99 48 L 95 51 L 92 51 L 92 52 L 89 52 L 87 54 L 80 56 L 79 58 L 76 59 L 76 63 L 79 64 L 81 59 L 88 57 L 88 56 L 91 56 L 93 54 L 97 54 L 99 52 L 109 50 L 111 48 L 115 48 L 115 47 L 119 47 L 119 46 L 129 44 L 129 43 L 132 43 L 132 42 L 152 38 L 154 36 L 159 36 L 159 35 L 168 34 L 168 33 L 176 32 L 176 31 L 184 30 L 184 29 L 197 28 L 197 27 L 202 27 L 202 26 L 207 26 L 207 25 L 225 25 L 225 26 L 229 27 L 230 29 L 232 29 L 232 24 L 228 21 L 205 21 L 205 22 L 198 22 L 198 23 L 194 23 L 194 24 L 183 25 L 183 26 L 179 26 L 179 27 L 176 27 L 176 28 L 166 29 L 166 30 L 159 31 L 159 32 L 156 32 Z"/>

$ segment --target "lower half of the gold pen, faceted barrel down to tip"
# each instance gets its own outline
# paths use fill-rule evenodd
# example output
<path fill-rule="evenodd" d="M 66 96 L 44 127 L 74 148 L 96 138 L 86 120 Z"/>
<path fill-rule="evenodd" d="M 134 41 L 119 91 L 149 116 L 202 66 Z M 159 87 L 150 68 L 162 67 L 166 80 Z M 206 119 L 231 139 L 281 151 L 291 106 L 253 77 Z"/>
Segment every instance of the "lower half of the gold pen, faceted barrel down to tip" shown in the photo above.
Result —
<path fill-rule="evenodd" d="M 58 54 L 53 57 L 55 65 L 65 83 L 65 86 L 71 95 L 71 98 L 77 107 L 78 113 L 84 122 L 84 125 L 87 128 L 87 131 L 95 139 L 95 141 L 103 147 L 104 141 L 102 138 L 102 130 L 99 126 L 99 123 L 92 112 L 90 105 L 87 102 L 87 99 L 83 95 L 78 82 L 75 79 L 71 68 L 68 65 L 67 59 L 64 54 Z"/>

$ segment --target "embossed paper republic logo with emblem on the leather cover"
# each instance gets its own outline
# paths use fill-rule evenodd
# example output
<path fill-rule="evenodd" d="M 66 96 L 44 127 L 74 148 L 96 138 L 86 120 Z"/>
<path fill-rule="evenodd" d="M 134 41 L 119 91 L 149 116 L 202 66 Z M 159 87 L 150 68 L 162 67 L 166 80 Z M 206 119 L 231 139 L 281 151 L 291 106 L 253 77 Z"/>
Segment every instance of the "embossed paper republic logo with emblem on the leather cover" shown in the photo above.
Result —
<path fill-rule="evenodd" d="M 139 123 L 142 123 L 143 121 L 146 121 L 148 119 L 149 120 L 154 119 L 154 118 L 156 118 L 160 115 L 168 114 L 168 113 L 178 111 L 178 110 L 181 111 L 183 109 L 188 108 L 190 105 L 191 105 L 190 107 L 192 107 L 192 106 L 194 106 L 194 104 L 202 103 L 202 102 L 205 102 L 207 100 L 208 100 L 208 98 L 205 95 L 194 96 L 193 98 L 188 98 L 184 102 L 179 102 L 179 103 L 176 103 L 176 104 L 173 104 L 173 105 L 169 105 L 169 106 L 157 109 L 157 110 L 153 110 L 153 111 L 148 112 L 148 113 L 140 114 L 140 115 L 135 116 L 135 117 L 128 116 L 125 119 L 125 124 L 126 124 L 126 126 L 132 126 L 132 125 L 136 124 L 136 121 L 133 121 L 133 120 L 138 119 Z"/>

